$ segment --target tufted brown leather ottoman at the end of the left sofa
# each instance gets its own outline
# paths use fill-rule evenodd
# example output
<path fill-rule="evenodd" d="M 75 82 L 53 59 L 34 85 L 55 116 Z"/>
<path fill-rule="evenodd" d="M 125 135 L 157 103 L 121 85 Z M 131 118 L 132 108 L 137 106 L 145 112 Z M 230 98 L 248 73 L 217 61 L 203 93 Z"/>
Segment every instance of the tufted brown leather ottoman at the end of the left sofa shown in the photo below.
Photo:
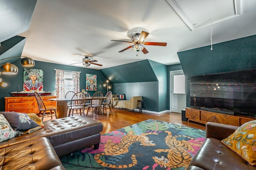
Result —
<path fill-rule="evenodd" d="M 44 122 L 44 131 L 59 157 L 92 145 L 98 149 L 102 129 L 99 121 L 80 115 Z"/>

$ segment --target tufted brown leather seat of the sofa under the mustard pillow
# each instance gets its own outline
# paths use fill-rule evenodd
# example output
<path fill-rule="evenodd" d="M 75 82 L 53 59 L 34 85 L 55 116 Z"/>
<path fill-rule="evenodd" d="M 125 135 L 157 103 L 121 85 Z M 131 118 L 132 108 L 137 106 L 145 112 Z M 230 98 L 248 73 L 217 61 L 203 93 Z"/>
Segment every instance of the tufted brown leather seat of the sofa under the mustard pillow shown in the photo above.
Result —
<path fill-rule="evenodd" d="M 190 162 L 188 170 L 196 168 L 204 170 L 256 170 L 241 156 L 226 147 L 220 140 L 207 138 L 195 157 Z"/>

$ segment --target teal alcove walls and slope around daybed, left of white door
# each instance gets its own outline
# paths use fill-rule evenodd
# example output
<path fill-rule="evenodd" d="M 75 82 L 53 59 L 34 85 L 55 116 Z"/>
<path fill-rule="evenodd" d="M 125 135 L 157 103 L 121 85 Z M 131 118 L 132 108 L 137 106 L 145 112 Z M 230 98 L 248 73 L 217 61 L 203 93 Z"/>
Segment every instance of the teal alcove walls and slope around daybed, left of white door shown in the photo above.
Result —
<path fill-rule="evenodd" d="M 113 94 L 142 96 L 150 111 L 164 111 L 168 106 L 167 66 L 150 60 L 102 69 L 113 86 Z"/>

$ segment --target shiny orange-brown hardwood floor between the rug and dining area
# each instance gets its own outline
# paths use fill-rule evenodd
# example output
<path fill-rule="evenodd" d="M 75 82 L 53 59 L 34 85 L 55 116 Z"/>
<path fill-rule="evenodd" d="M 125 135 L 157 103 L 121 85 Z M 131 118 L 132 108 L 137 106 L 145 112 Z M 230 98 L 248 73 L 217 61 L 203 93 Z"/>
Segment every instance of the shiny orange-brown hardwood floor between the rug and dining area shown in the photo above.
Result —
<path fill-rule="evenodd" d="M 92 117 L 92 113 L 88 113 L 88 117 Z M 48 120 L 49 118 L 44 118 L 44 121 Z M 107 109 L 104 111 L 103 116 L 102 115 L 96 115 L 94 114 L 93 119 L 98 120 L 102 122 L 103 124 L 103 131 L 101 134 L 108 133 L 110 131 L 114 131 L 116 129 L 120 129 L 122 127 L 126 127 L 135 123 L 139 123 L 141 121 L 147 120 L 147 119 L 156 119 L 160 121 L 166 121 L 169 123 L 174 123 L 177 125 L 184 125 L 187 127 L 193 127 L 197 129 L 203 129 L 205 130 L 205 125 L 195 122 L 186 122 L 181 120 L 181 113 L 173 113 L 173 112 L 167 112 L 162 114 L 152 114 L 152 113 L 138 113 L 136 111 L 132 112 L 128 109 L 112 109 L 112 112 L 110 112 L 110 109 Z"/>

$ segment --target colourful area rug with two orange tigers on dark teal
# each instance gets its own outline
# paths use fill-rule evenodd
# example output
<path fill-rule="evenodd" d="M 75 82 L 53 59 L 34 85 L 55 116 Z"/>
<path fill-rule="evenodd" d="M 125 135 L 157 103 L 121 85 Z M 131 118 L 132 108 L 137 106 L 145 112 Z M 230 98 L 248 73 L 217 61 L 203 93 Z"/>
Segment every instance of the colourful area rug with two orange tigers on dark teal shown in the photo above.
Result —
<path fill-rule="evenodd" d="M 100 147 L 60 158 L 66 170 L 186 170 L 205 131 L 154 119 L 106 133 Z"/>

